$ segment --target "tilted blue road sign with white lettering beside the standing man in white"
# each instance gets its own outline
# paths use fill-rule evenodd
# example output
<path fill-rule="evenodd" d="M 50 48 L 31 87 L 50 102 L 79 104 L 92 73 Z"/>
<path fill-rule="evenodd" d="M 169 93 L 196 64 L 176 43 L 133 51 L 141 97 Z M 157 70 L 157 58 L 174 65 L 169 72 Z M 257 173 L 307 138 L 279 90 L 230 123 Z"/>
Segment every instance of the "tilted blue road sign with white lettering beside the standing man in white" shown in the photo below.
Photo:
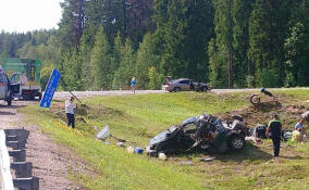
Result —
<path fill-rule="evenodd" d="M 58 86 L 60 76 L 61 76 L 61 74 L 55 68 L 53 68 L 53 71 L 52 71 L 52 73 L 49 77 L 49 80 L 48 80 L 48 84 L 47 84 L 47 87 L 45 89 L 44 97 L 40 101 L 39 106 L 42 106 L 42 107 L 49 107 L 50 106 L 53 93 L 57 90 L 57 86 Z"/>

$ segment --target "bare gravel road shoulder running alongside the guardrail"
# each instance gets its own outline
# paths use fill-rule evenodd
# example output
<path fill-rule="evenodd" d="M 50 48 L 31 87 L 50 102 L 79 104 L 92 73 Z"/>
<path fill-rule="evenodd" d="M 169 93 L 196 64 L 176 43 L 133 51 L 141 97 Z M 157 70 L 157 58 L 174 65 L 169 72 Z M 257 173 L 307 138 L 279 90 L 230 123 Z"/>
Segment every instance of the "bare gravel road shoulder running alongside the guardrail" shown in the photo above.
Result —
<path fill-rule="evenodd" d="M 29 102 L 36 103 L 36 102 Z M 35 125 L 18 125 L 24 122 L 24 116 L 16 109 L 26 102 L 15 101 L 13 106 L 0 105 L 0 128 L 25 128 L 29 130 L 26 144 L 27 162 L 33 163 L 33 176 L 39 178 L 40 189 L 65 190 L 86 189 L 69 179 L 69 170 L 91 174 L 90 167 L 77 159 L 74 153 L 54 141 Z"/>

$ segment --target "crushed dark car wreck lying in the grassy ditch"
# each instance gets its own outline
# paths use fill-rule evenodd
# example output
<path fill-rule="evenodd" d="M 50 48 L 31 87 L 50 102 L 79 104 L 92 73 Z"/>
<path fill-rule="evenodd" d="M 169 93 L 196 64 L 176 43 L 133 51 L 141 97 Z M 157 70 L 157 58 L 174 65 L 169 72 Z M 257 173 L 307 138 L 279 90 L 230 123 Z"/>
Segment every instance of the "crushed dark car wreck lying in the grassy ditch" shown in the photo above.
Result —
<path fill-rule="evenodd" d="M 239 151 L 245 144 L 248 128 L 240 116 L 232 116 L 233 122 L 201 114 L 183 121 L 180 126 L 172 126 L 150 140 L 146 151 L 148 155 L 158 153 L 180 153 L 193 150 L 214 148 L 224 153 L 228 149 Z"/>

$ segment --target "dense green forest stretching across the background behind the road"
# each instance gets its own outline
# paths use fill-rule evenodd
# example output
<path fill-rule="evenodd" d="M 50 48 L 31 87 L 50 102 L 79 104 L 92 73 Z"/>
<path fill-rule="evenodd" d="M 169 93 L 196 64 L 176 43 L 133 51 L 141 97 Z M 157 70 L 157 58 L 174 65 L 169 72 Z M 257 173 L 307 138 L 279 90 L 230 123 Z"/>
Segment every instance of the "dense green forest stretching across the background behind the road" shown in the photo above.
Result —
<path fill-rule="evenodd" d="M 58 29 L 0 33 L 0 58 L 42 62 L 70 90 L 309 86 L 309 0 L 64 0 Z M 39 16 L 39 15 L 38 15 Z"/>

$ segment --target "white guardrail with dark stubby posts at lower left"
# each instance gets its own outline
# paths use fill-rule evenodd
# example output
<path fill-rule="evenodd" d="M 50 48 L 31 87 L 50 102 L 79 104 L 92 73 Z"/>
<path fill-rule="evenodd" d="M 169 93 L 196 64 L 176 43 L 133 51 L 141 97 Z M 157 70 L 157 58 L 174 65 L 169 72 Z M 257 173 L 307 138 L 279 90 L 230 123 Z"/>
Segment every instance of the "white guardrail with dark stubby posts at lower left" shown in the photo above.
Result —
<path fill-rule="evenodd" d="M 29 131 L 25 129 L 0 129 L 0 166 L 2 176 L 2 190 L 38 190 L 39 180 L 33 177 L 33 164 L 26 162 L 25 143 Z M 12 150 L 8 150 L 8 148 Z M 10 156 L 13 162 L 10 162 Z M 11 169 L 15 177 L 12 177 Z"/>

